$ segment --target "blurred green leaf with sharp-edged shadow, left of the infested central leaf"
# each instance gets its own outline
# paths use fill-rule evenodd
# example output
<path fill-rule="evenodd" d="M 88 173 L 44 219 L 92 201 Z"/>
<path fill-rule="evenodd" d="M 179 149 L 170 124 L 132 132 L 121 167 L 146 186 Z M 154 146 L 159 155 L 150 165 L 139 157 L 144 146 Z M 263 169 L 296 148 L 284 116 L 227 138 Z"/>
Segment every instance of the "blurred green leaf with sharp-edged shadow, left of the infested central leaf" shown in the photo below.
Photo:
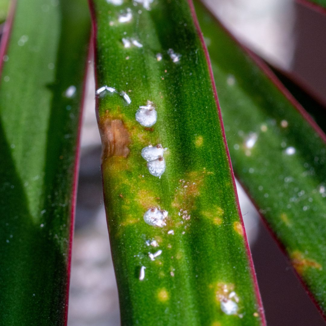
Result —
<path fill-rule="evenodd" d="M 1 325 L 66 322 L 89 25 L 82 0 L 16 4 L 1 57 Z"/>

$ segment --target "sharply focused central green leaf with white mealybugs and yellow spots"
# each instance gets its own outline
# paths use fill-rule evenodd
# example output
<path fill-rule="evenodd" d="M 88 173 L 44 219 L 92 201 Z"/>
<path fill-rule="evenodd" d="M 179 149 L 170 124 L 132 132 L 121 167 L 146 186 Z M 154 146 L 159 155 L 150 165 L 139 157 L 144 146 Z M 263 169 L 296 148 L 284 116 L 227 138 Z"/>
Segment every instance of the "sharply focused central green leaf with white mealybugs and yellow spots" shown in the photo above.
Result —
<path fill-rule="evenodd" d="M 103 187 L 122 325 L 264 324 L 189 4 L 110 2 L 120 3 L 92 1 L 92 10 Z M 150 173 L 164 163 L 164 173 Z"/>

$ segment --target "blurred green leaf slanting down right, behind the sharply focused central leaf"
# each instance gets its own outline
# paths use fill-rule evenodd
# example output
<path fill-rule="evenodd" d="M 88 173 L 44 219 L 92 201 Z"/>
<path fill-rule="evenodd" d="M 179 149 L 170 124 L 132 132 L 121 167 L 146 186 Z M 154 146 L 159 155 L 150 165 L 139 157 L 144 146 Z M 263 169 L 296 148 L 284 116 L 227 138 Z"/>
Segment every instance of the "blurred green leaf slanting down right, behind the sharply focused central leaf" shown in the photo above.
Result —
<path fill-rule="evenodd" d="M 325 135 L 312 127 L 203 5 L 196 2 L 196 10 L 234 171 L 325 312 Z"/>

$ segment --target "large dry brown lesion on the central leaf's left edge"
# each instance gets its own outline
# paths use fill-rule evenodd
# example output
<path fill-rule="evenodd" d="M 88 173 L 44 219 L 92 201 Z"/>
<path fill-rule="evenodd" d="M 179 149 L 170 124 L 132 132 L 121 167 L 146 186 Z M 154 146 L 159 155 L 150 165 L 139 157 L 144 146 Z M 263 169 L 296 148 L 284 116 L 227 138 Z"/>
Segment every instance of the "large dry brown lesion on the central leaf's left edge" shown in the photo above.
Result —
<path fill-rule="evenodd" d="M 102 141 L 102 162 L 112 156 L 126 158 L 130 152 L 129 132 L 121 119 L 117 119 L 106 111 L 99 121 Z"/>

